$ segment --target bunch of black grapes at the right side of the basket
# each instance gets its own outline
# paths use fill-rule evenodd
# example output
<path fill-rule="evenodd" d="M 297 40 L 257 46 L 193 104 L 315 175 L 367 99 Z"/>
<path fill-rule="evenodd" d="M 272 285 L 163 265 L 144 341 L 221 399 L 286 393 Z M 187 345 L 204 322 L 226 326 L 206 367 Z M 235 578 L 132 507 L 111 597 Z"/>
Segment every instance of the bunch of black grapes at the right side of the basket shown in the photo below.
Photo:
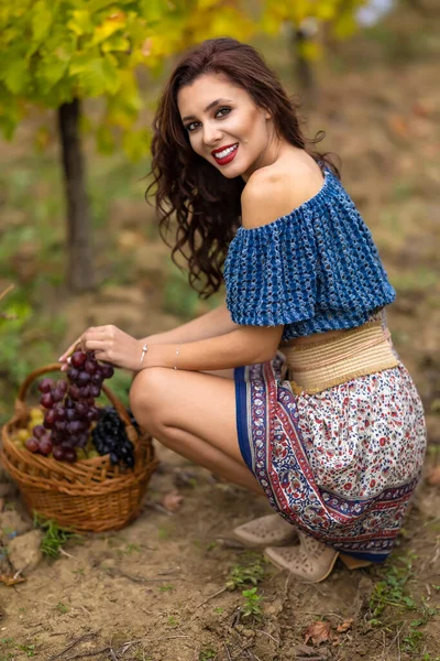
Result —
<path fill-rule="evenodd" d="M 132 414 L 130 414 L 130 418 L 133 422 Z M 138 423 L 135 424 L 138 425 Z M 134 468 L 134 445 L 129 440 L 124 423 L 119 418 L 116 409 L 106 407 L 101 411 L 101 416 L 91 432 L 91 437 L 100 455 L 110 454 L 110 462 L 113 466 L 121 463 L 129 468 Z"/>

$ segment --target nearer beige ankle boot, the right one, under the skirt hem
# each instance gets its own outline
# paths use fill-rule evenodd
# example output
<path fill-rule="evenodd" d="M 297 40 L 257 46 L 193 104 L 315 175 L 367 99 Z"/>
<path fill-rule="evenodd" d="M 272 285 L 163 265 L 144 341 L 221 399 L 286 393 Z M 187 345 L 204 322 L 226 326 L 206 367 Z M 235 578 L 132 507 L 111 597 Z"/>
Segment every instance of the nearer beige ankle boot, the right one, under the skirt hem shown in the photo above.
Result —
<path fill-rule="evenodd" d="M 299 545 L 268 548 L 264 555 L 278 568 L 288 570 L 302 581 L 319 583 L 331 573 L 339 553 L 299 532 Z"/>

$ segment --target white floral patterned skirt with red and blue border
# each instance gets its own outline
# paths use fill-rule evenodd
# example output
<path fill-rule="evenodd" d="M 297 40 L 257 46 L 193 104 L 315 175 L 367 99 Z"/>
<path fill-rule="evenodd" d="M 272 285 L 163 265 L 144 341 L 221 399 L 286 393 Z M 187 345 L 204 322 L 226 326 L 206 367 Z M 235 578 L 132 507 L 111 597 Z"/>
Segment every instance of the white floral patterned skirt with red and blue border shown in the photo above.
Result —
<path fill-rule="evenodd" d="M 270 503 L 302 532 L 359 559 L 392 551 L 420 477 L 424 410 L 397 367 L 294 394 L 283 357 L 235 369 L 242 456 Z"/>

